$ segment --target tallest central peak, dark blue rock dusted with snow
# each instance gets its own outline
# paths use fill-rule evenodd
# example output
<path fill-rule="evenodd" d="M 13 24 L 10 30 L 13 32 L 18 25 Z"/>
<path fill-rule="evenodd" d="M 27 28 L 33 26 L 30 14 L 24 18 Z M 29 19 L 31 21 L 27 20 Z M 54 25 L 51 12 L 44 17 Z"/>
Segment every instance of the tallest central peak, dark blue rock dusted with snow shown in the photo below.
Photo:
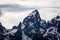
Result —
<path fill-rule="evenodd" d="M 45 21 L 41 20 L 39 12 L 37 10 L 33 11 L 23 21 L 25 34 L 30 38 L 33 38 L 35 35 L 40 36 L 40 29 L 42 29 L 43 23 L 45 23 Z"/>

